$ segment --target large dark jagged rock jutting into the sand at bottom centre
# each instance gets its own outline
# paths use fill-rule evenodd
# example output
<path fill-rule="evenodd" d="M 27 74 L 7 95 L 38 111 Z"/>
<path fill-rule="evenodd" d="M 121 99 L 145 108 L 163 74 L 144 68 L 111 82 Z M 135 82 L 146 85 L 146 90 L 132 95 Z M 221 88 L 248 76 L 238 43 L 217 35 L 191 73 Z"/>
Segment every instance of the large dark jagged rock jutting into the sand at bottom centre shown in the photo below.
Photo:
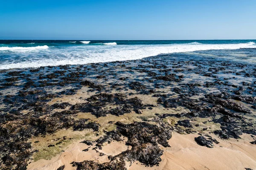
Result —
<path fill-rule="evenodd" d="M 77 169 L 120 169 L 126 170 L 125 161 L 140 161 L 145 166 L 159 164 L 160 156 L 163 154 L 158 144 L 168 147 L 167 140 L 172 137 L 170 128 L 163 122 L 158 122 L 159 126 L 151 125 L 145 122 L 134 122 L 132 124 L 123 124 L 116 122 L 117 130 L 105 132 L 106 135 L 96 141 L 96 146 L 101 149 L 105 142 L 110 143 L 113 140 L 120 141 L 121 136 L 128 138 L 127 145 L 132 146 L 131 150 L 126 150 L 119 155 L 111 157 L 111 161 L 103 164 L 94 161 L 72 162 Z"/>

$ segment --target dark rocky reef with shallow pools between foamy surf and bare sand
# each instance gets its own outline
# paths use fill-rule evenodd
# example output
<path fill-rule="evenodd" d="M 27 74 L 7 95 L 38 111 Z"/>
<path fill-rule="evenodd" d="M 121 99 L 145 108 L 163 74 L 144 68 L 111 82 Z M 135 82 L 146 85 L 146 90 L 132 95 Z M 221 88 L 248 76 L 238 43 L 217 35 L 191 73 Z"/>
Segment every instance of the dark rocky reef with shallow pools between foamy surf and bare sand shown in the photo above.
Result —
<path fill-rule="evenodd" d="M 225 140 L 239 139 L 243 133 L 256 136 L 253 64 L 171 54 L 2 70 L 0 77 L 2 170 L 25 170 L 33 155 L 40 152 L 31 139 L 65 129 L 89 130 L 96 136 L 95 140 L 84 140 L 95 145 L 90 149 L 101 150 L 104 143 L 122 137 L 131 147 L 102 164 L 72 162 L 77 170 L 126 170 L 125 162 L 134 161 L 155 166 L 161 161 L 162 147 L 171 147 L 168 140 L 173 132 L 200 133 L 195 142 L 209 148 L 218 144 L 209 134 Z M 106 130 L 107 125 L 112 129 Z M 58 140 L 64 142 L 69 137 Z"/>

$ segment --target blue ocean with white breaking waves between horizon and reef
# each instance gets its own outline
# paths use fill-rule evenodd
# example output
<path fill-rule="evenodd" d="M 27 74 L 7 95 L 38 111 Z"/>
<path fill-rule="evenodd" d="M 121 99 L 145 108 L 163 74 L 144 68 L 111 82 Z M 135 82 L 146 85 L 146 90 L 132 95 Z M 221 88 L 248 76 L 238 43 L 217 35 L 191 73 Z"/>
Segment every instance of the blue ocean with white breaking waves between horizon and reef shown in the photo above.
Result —
<path fill-rule="evenodd" d="M 256 40 L 0 40 L 0 70 L 112 62 L 192 52 L 256 63 Z M 173 55 L 172 55 L 173 56 Z"/>

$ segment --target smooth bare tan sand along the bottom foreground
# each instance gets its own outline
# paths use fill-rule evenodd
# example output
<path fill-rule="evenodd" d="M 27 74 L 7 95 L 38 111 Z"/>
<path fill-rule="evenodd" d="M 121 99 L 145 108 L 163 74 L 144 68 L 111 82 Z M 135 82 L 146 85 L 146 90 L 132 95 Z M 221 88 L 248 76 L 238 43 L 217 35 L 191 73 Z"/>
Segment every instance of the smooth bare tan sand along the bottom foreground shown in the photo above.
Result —
<path fill-rule="evenodd" d="M 250 135 L 243 135 L 243 139 L 221 140 L 213 148 L 198 145 L 194 138 L 197 134 L 174 133 L 169 140 L 171 147 L 162 147 L 164 150 L 159 166 L 145 167 L 139 161 L 135 161 L 128 170 L 243 170 L 245 167 L 256 168 L 256 147 L 250 144 Z M 82 140 L 81 140 L 82 141 Z M 99 163 L 108 162 L 109 155 L 117 155 L 129 149 L 125 142 L 111 142 L 105 144 L 99 156 L 96 150 L 90 146 L 79 143 L 71 144 L 61 155 L 51 160 L 39 160 L 32 162 L 28 170 L 56 170 L 65 164 L 64 170 L 76 170 L 71 166 L 72 161 L 93 160 Z M 89 151 L 82 151 L 90 147 Z M 108 156 L 107 156 L 108 155 Z"/>

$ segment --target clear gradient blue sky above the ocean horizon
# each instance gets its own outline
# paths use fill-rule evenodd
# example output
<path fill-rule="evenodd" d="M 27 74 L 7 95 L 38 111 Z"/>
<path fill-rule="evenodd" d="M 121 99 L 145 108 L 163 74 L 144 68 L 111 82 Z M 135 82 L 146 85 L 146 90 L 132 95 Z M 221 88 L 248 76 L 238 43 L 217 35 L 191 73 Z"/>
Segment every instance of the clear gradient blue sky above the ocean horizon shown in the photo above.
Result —
<path fill-rule="evenodd" d="M 0 1 L 0 39 L 256 39 L 256 0 Z"/>

